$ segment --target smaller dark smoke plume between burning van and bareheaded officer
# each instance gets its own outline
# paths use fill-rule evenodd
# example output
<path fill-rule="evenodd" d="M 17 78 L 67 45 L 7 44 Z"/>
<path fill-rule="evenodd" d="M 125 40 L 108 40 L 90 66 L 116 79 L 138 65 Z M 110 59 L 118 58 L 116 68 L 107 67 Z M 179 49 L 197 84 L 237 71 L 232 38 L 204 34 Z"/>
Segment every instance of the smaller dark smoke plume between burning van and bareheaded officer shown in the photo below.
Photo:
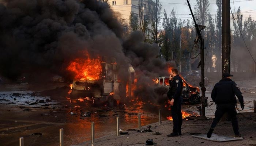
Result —
<path fill-rule="evenodd" d="M 135 31 L 124 41 L 125 55 L 129 58 L 137 73 L 137 88 L 134 91 L 136 97 L 143 101 L 158 102 L 159 94 L 166 92 L 166 88 L 155 86 L 153 79 L 158 76 L 169 76 L 168 66 L 175 67 L 175 64 L 157 58 L 159 47 L 157 44 L 143 42 L 143 34 Z"/>

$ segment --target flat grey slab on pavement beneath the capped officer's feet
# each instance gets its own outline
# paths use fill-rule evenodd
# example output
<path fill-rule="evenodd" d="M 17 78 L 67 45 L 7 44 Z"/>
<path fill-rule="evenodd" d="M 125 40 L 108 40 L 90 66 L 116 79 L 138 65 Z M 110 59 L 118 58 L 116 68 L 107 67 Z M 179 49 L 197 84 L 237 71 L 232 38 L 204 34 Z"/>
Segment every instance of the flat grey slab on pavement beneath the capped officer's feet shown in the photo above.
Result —
<path fill-rule="evenodd" d="M 211 138 L 207 138 L 207 134 L 198 134 L 198 135 L 192 135 L 192 137 L 202 138 L 209 141 L 216 141 L 216 142 L 225 142 L 225 141 L 236 141 L 240 139 L 244 139 L 242 137 L 230 137 L 225 135 L 218 135 L 218 134 L 212 134 Z"/>

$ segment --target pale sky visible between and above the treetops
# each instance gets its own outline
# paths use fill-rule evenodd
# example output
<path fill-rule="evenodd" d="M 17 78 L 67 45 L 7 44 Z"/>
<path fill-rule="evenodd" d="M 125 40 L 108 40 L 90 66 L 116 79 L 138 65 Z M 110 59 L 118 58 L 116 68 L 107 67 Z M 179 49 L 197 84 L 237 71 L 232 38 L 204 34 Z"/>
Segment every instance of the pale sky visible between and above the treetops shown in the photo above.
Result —
<path fill-rule="evenodd" d="M 189 7 L 188 5 L 185 4 L 187 3 L 187 0 L 160 0 L 160 2 L 162 3 L 163 9 L 166 9 L 167 14 L 170 14 L 172 9 L 174 8 L 177 14 L 176 16 L 177 18 L 181 18 L 181 20 L 184 20 L 184 19 L 192 20 L 192 16 L 189 15 L 191 14 Z M 194 6 L 196 3 L 196 0 L 190 0 L 189 3 L 192 7 L 193 13 L 195 13 Z M 210 3 L 209 5 L 210 13 L 216 14 L 217 13 L 216 0 L 209 0 L 209 3 Z M 251 14 L 252 19 L 256 20 L 256 7 L 255 7 L 256 0 L 230 0 L 230 7 L 233 13 L 237 11 L 239 6 L 241 9 L 241 12 L 243 12 L 242 14 L 244 15 L 245 19 L 247 19 L 248 16 Z M 212 18 L 215 19 L 215 16 L 213 15 Z M 161 23 L 161 26 L 162 26 L 162 23 Z M 232 27 L 233 25 L 231 24 L 231 29 Z"/>

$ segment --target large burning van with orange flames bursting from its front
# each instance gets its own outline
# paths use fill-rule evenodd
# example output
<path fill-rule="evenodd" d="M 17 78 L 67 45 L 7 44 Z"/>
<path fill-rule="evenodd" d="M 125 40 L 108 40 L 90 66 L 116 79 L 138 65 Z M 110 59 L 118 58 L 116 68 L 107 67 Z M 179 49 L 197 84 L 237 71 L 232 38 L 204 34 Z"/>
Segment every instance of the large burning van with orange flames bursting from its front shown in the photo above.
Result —
<path fill-rule="evenodd" d="M 126 96 L 131 96 L 131 88 L 136 77 L 131 65 L 127 68 L 127 84 L 123 85 L 118 78 L 117 71 L 120 66 L 116 64 L 115 59 L 102 57 L 98 60 L 94 59 L 90 64 L 88 62 L 86 61 L 83 69 L 83 74 L 87 75 L 86 78 L 76 77 L 73 80 L 71 97 L 100 98 L 103 101 L 111 97 L 119 101 Z M 93 65 L 93 68 L 90 68 L 90 65 Z M 90 68 L 88 73 L 87 68 Z M 68 69 L 72 69 L 72 66 Z"/>

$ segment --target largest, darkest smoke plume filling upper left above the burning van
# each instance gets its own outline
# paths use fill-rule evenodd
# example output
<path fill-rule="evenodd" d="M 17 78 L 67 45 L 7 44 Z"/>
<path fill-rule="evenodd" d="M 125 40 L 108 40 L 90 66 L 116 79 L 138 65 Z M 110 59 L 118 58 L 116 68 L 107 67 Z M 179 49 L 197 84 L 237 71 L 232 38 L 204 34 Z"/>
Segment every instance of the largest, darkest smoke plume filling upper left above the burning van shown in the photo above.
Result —
<path fill-rule="evenodd" d="M 124 60 L 122 27 L 96 0 L 7 0 L 0 5 L 0 74 L 49 70 L 65 74 L 81 51 Z"/>

